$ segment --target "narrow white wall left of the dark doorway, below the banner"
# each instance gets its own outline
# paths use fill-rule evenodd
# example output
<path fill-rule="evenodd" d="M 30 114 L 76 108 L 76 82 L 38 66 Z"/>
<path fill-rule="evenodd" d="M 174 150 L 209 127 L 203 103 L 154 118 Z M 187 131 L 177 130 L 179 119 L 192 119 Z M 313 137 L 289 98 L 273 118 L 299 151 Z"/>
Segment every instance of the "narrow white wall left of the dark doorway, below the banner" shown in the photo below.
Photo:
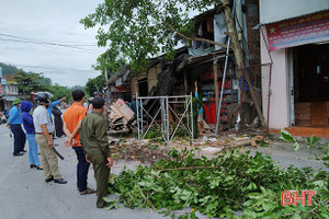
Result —
<path fill-rule="evenodd" d="M 263 28 L 263 27 L 262 27 Z M 264 30 L 262 30 L 265 34 Z M 264 35 L 266 37 L 266 35 Z M 272 65 L 270 117 L 269 127 L 281 129 L 290 126 L 290 100 L 288 100 L 288 65 L 286 49 L 270 53 Z M 261 36 L 261 64 L 262 64 L 262 106 L 265 120 L 268 119 L 268 94 L 271 59 Z"/>

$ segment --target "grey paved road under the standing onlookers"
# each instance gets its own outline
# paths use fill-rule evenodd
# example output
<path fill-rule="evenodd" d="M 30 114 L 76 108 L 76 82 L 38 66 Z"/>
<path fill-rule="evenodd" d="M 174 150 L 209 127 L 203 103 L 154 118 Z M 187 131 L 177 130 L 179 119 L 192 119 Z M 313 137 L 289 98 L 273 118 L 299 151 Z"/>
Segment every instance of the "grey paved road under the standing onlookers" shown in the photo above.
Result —
<path fill-rule="evenodd" d="M 43 171 L 30 169 L 27 153 L 12 155 L 9 129 L 0 125 L 0 219 L 163 218 L 162 215 L 145 209 L 98 209 L 95 194 L 79 195 L 76 186 L 76 154 L 72 149 L 61 147 L 64 141 L 65 138 L 60 138 L 55 143 L 60 145 L 57 149 L 66 158 L 59 161 L 59 169 L 68 184 L 45 183 Z M 118 173 L 123 165 L 115 163 L 112 172 Z M 89 186 L 95 188 L 92 169 L 89 171 Z"/>

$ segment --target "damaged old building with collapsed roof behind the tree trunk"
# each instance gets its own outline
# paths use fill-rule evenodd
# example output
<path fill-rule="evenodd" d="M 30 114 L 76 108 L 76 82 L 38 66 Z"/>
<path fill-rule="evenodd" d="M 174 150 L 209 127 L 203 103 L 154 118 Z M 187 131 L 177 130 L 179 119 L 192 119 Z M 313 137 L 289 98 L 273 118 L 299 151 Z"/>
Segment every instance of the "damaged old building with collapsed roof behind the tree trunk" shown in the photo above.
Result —
<path fill-rule="evenodd" d="M 260 95 L 260 54 L 259 54 L 259 31 L 252 27 L 259 23 L 258 1 L 236 1 L 236 26 L 246 62 L 252 70 L 252 85 Z M 224 9 L 216 8 L 208 10 L 194 19 L 195 31 L 193 36 L 227 44 L 228 36 Z M 138 96 L 160 95 L 184 95 L 194 91 L 194 82 L 197 81 L 198 93 L 203 96 L 204 118 L 208 124 L 217 124 L 217 112 L 219 107 L 219 94 L 224 79 L 226 48 L 200 41 L 185 42 L 175 37 L 178 45 L 172 60 L 166 56 L 150 59 L 148 68 L 144 72 L 132 71 L 126 66 L 122 71 L 115 72 L 109 80 L 111 96 L 122 97 L 131 101 L 135 94 Z M 232 128 L 239 114 L 239 85 L 236 60 L 231 49 L 228 54 L 228 65 L 223 85 L 223 100 L 220 111 L 220 128 Z M 248 93 L 248 85 L 245 84 L 243 92 Z M 259 97 L 261 101 L 261 97 Z M 243 119 L 247 124 L 252 123 L 257 116 L 253 110 L 253 101 L 245 95 L 242 101 Z M 173 108 L 182 112 L 183 104 L 175 104 Z M 241 115 L 242 117 L 242 115 Z"/>

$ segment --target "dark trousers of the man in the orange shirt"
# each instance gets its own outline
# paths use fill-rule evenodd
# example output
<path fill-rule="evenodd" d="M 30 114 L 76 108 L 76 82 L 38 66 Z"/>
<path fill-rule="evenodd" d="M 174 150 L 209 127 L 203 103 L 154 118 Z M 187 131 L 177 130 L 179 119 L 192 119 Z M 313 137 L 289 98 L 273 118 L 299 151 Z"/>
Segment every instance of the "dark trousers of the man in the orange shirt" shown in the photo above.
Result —
<path fill-rule="evenodd" d="M 72 147 L 76 151 L 78 164 L 77 164 L 77 186 L 79 192 L 87 189 L 88 171 L 90 163 L 87 162 L 82 147 Z"/>

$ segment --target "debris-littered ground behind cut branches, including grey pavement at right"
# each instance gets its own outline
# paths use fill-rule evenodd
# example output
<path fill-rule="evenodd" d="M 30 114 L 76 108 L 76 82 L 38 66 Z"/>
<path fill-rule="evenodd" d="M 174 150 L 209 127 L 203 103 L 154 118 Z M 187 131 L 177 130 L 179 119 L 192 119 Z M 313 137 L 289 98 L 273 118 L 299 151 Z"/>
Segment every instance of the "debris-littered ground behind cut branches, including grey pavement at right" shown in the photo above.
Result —
<path fill-rule="evenodd" d="M 222 131 L 218 136 L 208 131 L 206 135 L 194 139 L 174 138 L 170 146 L 167 142 L 155 139 L 144 139 L 138 142 L 134 135 L 110 136 L 111 150 L 115 160 L 137 161 L 137 163 L 152 164 L 159 159 L 168 159 L 167 151 L 171 148 L 182 150 L 195 150 L 195 157 L 207 158 L 216 157 L 224 150 L 239 149 L 250 150 L 251 154 L 256 151 L 270 154 L 272 159 L 282 166 L 295 165 L 298 168 L 313 166 L 324 168 L 315 159 L 314 154 L 320 154 L 317 148 L 324 148 L 329 139 L 319 139 L 319 142 L 313 148 L 307 149 L 306 138 L 296 137 L 300 145 L 298 151 L 294 151 L 292 142 L 281 140 L 280 135 L 265 136 L 261 130 L 237 132 L 236 130 Z"/>

